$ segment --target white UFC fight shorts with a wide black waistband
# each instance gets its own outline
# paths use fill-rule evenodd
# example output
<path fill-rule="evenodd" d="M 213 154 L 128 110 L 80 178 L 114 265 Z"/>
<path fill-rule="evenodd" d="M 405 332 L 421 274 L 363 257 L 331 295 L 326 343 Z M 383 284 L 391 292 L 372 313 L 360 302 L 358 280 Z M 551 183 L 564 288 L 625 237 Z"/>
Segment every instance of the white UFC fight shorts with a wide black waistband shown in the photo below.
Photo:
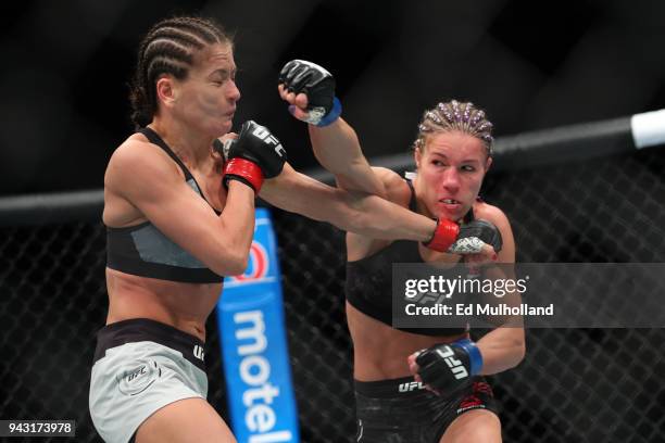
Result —
<path fill-rule="evenodd" d="M 158 409 L 208 396 L 203 342 L 145 318 L 118 321 L 97 334 L 90 416 L 108 443 L 127 443 Z"/>

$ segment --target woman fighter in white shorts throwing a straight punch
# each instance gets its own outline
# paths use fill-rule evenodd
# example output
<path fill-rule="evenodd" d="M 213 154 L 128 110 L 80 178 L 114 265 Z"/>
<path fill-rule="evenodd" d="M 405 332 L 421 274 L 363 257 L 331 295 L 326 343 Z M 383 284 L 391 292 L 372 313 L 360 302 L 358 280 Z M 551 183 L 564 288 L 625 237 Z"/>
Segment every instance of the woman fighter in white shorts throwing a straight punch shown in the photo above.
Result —
<path fill-rule="evenodd" d="M 139 48 L 130 94 L 137 131 L 104 177 L 109 314 L 89 405 L 106 442 L 235 441 L 205 401 L 205 320 L 223 276 L 247 267 L 256 193 L 380 238 L 446 250 L 474 237 L 296 173 L 279 141 L 251 121 L 223 159 L 219 138 L 228 138 L 240 99 L 235 75 L 233 42 L 210 20 L 161 21 Z"/>

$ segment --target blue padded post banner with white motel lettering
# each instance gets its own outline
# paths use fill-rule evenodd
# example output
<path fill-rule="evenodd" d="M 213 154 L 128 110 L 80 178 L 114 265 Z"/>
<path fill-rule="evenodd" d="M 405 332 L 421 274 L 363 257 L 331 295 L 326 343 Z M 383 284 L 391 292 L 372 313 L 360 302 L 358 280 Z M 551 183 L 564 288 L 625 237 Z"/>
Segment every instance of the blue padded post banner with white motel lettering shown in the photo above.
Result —
<path fill-rule="evenodd" d="M 217 304 L 230 425 L 239 443 L 300 441 L 280 276 L 269 212 L 258 208 L 250 264 L 243 275 L 225 279 Z"/>

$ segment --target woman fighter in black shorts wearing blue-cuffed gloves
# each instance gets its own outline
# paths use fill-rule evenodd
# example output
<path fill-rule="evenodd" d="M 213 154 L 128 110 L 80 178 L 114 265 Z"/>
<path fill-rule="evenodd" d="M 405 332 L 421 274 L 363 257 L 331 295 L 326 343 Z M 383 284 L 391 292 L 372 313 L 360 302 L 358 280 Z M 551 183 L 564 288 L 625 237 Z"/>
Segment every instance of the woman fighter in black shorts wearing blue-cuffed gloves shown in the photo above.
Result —
<path fill-rule="evenodd" d="M 335 81 L 325 68 L 291 61 L 281 69 L 278 90 L 291 114 L 310 123 L 314 153 L 335 174 L 338 187 L 372 192 L 462 227 L 487 220 L 500 232 L 487 241 L 498 251 L 494 258 L 514 263 L 515 242 L 506 216 L 478 199 L 492 163 L 492 125 L 482 110 L 453 100 L 426 111 L 414 143 L 417 173 L 404 179 L 390 169 L 368 166 L 355 132 L 339 117 Z M 452 266 L 460 255 L 353 232 L 347 235 L 347 251 L 357 441 L 500 442 L 495 401 L 482 376 L 512 368 L 524 358 L 519 320 L 518 327 L 495 328 L 477 343 L 466 328 L 392 328 L 391 265 Z M 472 266 L 486 260 L 463 258 Z M 451 366 L 457 365 L 464 370 L 453 372 Z M 422 383 L 413 382 L 414 377 Z"/>

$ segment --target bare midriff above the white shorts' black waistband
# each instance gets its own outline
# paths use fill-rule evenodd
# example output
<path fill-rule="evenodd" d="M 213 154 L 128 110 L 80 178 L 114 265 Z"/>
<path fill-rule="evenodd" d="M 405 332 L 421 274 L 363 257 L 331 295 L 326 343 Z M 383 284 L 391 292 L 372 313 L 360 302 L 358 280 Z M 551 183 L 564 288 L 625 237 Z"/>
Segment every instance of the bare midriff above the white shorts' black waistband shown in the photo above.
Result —
<path fill-rule="evenodd" d="M 158 280 L 106 268 L 106 324 L 149 318 L 205 341 L 205 319 L 219 299 L 222 283 Z"/>

